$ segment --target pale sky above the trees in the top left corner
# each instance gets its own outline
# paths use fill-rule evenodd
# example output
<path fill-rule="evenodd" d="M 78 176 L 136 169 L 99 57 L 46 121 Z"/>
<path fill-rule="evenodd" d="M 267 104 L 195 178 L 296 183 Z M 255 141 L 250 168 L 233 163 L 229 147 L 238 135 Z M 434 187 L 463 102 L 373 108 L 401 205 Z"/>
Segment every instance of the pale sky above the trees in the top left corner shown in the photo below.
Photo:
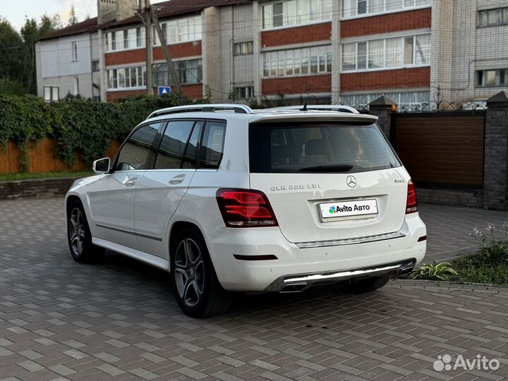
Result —
<path fill-rule="evenodd" d="M 164 0 L 152 0 L 152 4 L 160 1 Z M 44 13 L 50 16 L 58 13 L 65 25 L 71 6 L 75 8 L 78 21 L 85 20 L 86 16 L 97 16 L 97 0 L 23 0 L 19 2 L 0 0 L 0 18 L 6 18 L 19 31 L 26 17 L 39 20 Z"/>

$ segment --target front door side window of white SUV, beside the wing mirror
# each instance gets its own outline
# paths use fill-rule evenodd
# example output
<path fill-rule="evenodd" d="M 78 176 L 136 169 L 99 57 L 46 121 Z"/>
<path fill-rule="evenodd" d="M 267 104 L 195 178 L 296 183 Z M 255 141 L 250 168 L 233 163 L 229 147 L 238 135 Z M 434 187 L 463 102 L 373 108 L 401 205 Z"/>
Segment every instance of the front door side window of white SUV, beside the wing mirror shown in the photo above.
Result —
<path fill-rule="evenodd" d="M 150 169 L 152 161 L 152 143 L 161 123 L 147 124 L 138 128 L 121 148 L 116 171 Z"/>

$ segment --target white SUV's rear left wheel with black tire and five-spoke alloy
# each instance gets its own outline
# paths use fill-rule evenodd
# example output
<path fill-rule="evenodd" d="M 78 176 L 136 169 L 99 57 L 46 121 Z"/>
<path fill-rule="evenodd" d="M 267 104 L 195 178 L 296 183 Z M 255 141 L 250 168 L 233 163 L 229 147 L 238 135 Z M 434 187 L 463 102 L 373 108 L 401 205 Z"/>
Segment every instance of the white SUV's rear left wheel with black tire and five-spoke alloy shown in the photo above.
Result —
<path fill-rule="evenodd" d="M 232 294 L 219 283 L 202 235 L 186 228 L 172 241 L 171 286 L 181 310 L 191 317 L 226 312 Z"/>

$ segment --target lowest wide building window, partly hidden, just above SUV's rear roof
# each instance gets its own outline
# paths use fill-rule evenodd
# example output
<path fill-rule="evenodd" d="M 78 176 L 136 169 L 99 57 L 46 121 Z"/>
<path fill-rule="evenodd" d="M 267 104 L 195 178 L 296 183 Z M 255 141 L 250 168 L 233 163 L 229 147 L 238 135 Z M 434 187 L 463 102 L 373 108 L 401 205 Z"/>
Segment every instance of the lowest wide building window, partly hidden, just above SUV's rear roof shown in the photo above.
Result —
<path fill-rule="evenodd" d="M 373 94 L 353 94 L 342 95 L 341 104 L 346 104 L 353 107 L 367 107 L 373 100 L 382 97 L 392 99 L 399 107 L 423 107 L 430 101 L 430 94 L 428 91 L 418 92 L 380 92 Z"/>

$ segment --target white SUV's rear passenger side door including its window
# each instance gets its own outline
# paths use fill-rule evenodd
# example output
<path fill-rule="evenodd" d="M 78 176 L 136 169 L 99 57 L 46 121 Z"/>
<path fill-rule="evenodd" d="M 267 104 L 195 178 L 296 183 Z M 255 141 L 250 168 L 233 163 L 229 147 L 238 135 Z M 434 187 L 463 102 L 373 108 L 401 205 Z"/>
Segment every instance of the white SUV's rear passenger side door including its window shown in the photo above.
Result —
<path fill-rule="evenodd" d="M 165 258 L 167 227 L 195 174 L 203 121 L 168 121 L 154 169 L 136 189 L 134 229 L 140 250 Z"/>

